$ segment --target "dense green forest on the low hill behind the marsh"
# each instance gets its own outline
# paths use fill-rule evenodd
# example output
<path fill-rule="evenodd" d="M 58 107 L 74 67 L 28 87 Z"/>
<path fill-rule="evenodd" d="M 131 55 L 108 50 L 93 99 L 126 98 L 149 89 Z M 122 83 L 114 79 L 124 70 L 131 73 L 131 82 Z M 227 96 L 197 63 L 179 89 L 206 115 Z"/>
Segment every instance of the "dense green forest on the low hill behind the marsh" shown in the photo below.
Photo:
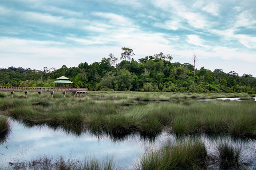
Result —
<path fill-rule="evenodd" d="M 128 48 L 127 48 L 128 49 Z M 128 57 L 127 57 L 128 59 Z M 172 57 L 162 53 L 138 59 L 123 60 L 110 53 L 108 58 L 88 65 L 59 69 L 31 70 L 21 67 L 0 69 L 0 86 L 52 87 L 56 78 L 64 75 L 73 87 L 88 87 L 100 91 L 149 91 L 149 92 L 247 92 L 256 93 L 256 78 L 234 71 L 213 72 L 204 67 L 195 70 L 188 63 L 171 63 Z M 111 65 L 114 65 L 111 66 Z"/>

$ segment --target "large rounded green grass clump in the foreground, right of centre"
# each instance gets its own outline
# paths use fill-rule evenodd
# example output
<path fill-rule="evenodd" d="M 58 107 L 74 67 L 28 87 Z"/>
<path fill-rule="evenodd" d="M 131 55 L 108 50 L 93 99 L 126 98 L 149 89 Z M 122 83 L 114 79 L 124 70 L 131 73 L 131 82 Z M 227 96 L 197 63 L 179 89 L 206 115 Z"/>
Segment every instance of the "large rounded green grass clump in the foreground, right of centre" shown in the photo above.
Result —
<path fill-rule="evenodd" d="M 136 170 L 201 170 L 207 165 L 205 145 L 198 140 L 165 144 L 157 151 L 143 155 Z"/>

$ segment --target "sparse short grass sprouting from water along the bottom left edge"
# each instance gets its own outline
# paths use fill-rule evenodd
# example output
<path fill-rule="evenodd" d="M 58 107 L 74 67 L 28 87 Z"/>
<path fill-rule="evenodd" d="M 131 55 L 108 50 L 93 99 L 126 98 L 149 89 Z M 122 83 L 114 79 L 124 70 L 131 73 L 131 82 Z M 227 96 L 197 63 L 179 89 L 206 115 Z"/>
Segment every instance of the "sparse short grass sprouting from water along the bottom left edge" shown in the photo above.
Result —
<path fill-rule="evenodd" d="M 113 158 L 107 158 L 99 162 L 96 158 L 85 158 L 84 160 L 74 159 L 53 159 L 43 156 L 31 161 L 9 163 L 9 169 L 13 170 L 117 170 L 118 166 Z"/>

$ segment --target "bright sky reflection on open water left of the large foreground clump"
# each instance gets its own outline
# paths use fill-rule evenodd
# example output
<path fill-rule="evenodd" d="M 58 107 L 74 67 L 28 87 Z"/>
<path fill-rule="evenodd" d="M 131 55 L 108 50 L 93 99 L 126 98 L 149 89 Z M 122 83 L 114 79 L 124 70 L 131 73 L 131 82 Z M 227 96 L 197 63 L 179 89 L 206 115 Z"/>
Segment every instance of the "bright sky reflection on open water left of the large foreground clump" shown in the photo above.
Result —
<path fill-rule="evenodd" d="M 10 138 L 0 146 L 0 167 L 7 166 L 8 162 L 31 160 L 42 155 L 74 159 L 89 155 L 99 160 L 108 155 L 121 162 L 122 167 L 130 167 L 144 150 L 168 138 L 164 134 L 154 140 L 141 138 L 138 134 L 113 137 L 103 133 L 94 135 L 88 131 L 77 135 L 67 133 L 60 127 L 27 126 L 17 121 L 11 121 L 11 124 Z"/>

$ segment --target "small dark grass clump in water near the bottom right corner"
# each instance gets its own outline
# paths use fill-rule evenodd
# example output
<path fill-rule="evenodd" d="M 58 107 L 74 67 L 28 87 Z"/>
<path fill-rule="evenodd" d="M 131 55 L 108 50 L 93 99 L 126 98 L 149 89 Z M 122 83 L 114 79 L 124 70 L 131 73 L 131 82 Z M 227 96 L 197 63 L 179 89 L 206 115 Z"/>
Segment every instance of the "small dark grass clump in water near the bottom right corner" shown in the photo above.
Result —
<path fill-rule="evenodd" d="M 243 163 L 242 147 L 223 141 L 216 147 L 216 162 L 221 170 L 238 170 L 249 164 Z"/>

